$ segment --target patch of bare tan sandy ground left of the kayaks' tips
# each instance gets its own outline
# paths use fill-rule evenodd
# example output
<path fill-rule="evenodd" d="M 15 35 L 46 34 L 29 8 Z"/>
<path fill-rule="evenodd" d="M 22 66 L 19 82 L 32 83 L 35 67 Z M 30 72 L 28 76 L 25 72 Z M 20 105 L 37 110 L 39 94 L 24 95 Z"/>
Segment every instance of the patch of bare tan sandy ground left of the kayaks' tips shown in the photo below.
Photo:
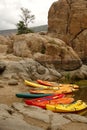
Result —
<path fill-rule="evenodd" d="M 8 81 L 0 81 L 0 103 L 11 105 L 14 102 L 23 102 L 22 98 L 16 97 L 16 93 L 21 92 L 28 92 L 28 87 L 23 83 L 8 85 Z"/>

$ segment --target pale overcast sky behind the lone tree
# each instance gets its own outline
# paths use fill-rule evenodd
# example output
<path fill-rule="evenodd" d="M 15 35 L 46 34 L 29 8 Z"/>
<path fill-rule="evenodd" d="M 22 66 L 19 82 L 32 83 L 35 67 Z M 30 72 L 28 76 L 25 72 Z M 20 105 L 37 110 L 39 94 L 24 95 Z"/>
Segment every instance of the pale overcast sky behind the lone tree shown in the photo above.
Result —
<path fill-rule="evenodd" d="M 21 7 L 31 11 L 35 15 L 30 27 L 45 25 L 48 23 L 48 11 L 52 3 L 57 0 L 0 0 L 0 30 L 15 29 L 21 20 Z"/>

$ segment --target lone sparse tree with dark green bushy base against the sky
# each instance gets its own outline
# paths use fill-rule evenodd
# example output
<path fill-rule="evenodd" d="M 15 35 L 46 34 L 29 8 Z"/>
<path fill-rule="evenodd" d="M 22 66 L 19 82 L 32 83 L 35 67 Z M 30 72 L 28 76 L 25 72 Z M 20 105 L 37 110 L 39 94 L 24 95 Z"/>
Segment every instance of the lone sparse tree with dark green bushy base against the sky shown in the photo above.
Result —
<path fill-rule="evenodd" d="M 19 21 L 17 23 L 17 30 L 18 33 L 17 34 L 25 34 L 25 33 L 29 33 L 32 32 L 29 28 L 28 28 L 28 24 L 30 22 L 33 22 L 35 19 L 34 15 L 31 15 L 31 11 L 29 11 L 26 8 L 21 8 L 22 14 L 20 15 L 21 17 L 21 21 Z"/>

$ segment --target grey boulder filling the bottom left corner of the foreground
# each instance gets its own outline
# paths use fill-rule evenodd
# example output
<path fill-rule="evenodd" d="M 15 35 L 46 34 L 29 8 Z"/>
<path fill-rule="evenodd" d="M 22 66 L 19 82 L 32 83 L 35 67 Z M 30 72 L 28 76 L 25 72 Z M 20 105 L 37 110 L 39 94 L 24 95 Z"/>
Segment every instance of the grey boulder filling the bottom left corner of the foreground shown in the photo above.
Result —
<path fill-rule="evenodd" d="M 23 115 L 17 113 L 6 104 L 0 104 L 0 130 L 45 130 L 24 120 Z"/>

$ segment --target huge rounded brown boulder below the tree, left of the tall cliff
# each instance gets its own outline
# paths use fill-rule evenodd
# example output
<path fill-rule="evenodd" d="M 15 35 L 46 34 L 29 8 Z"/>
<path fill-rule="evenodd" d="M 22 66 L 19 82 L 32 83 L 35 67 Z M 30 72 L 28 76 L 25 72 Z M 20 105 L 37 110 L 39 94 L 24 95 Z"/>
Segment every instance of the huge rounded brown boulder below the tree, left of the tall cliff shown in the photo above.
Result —
<path fill-rule="evenodd" d="M 74 70 L 82 65 L 75 51 L 57 38 L 31 33 L 14 36 L 11 44 L 8 52 L 23 58 L 33 58 L 45 66 Z"/>

